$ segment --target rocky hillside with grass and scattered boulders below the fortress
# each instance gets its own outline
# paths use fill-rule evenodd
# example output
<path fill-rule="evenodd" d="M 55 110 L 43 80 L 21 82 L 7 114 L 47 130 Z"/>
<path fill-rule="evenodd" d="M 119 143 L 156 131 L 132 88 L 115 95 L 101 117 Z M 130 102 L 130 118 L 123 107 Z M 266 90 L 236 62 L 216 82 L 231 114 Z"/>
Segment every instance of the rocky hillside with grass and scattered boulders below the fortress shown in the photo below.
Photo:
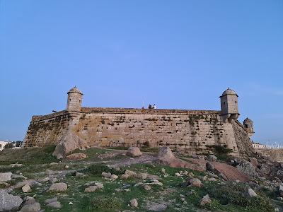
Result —
<path fill-rule="evenodd" d="M 0 211 L 282 211 L 283 164 L 170 148 L 0 153 Z"/>

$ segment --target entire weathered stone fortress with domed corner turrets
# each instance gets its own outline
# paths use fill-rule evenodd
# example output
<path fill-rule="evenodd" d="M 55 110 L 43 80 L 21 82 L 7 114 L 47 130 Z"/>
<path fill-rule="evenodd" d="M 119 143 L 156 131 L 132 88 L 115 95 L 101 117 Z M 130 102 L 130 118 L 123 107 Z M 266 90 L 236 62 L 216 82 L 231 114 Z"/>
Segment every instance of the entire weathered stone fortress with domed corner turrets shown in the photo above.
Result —
<path fill-rule="evenodd" d="M 25 147 L 72 143 L 88 146 L 169 146 L 191 154 L 224 146 L 234 155 L 253 152 L 253 122 L 238 122 L 238 95 L 228 88 L 220 96 L 221 110 L 163 110 L 82 107 L 83 93 L 68 92 L 67 110 L 33 116 Z M 75 140 L 75 141 L 70 141 Z M 68 152 L 68 151 L 67 151 Z"/>

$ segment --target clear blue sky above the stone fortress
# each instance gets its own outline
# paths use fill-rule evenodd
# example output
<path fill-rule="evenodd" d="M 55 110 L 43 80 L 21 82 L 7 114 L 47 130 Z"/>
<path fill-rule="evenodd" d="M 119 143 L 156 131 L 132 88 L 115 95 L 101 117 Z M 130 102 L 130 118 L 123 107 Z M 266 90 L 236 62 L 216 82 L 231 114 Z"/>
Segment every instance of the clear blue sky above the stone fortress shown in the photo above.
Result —
<path fill-rule="evenodd" d="M 219 110 L 239 95 L 255 141 L 283 141 L 283 1 L 0 0 L 0 139 L 85 107 Z"/>

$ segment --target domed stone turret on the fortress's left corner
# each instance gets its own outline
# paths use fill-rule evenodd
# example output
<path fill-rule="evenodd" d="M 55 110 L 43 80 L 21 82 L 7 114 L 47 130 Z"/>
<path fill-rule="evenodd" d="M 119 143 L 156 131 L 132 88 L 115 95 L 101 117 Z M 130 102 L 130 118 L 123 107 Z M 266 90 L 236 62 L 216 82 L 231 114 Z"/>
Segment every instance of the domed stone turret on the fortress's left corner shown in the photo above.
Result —
<path fill-rule="evenodd" d="M 81 90 L 76 88 L 71 88 L 68 92 L 67 110 L 69 111 L 81 111 L 81 102 L 83 100 L 83 93 Z"/>

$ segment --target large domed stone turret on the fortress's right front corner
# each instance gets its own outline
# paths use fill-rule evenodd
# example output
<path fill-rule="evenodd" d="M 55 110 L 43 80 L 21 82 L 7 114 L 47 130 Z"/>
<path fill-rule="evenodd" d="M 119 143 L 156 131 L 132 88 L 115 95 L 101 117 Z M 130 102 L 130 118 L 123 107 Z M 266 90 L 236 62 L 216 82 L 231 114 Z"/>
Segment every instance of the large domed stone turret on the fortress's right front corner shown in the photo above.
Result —
<path fill-rule="evenodd" d="M 228 88 L 219 97 L 221 102 L 221 117 L 224 120 L 238 119 L 238 95 L 234 90 Z"/>

